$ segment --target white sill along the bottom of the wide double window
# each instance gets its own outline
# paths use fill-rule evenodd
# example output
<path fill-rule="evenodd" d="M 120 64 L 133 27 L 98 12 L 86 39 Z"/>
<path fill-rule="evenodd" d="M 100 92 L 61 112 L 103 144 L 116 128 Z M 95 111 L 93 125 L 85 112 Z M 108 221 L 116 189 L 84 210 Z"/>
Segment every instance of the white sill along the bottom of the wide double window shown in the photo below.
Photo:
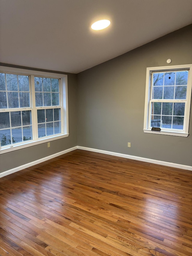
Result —
<path fill-rule="evenodd" d="M 69 136 L 69 134 L 59 134 L 57 136 L 49 136 L 49 137 L 47 136 L 47 137 L 40 138 L 40 139 L 37 139 L 37 140 L 32 140 L 32 141 L 27 141 L 27 142 L 22 142 L 22 143 L 15 143 L 15 144 L 12 144 L 12 145 L 3 146 L 0 149 L 0 154 L 11 152 L 11 151 L 14 151 L 14 150 L 17 150 L 17 149 L 27 148 L 27 147 L 30 147 L 30 146 L 35 146 L 35 145 L 38 145 L 38 144 L 41 144 L 41 143 L 50 142 L 52 140 L 62 139 L 62 138 L 68 137 L 68 136 Z"/>

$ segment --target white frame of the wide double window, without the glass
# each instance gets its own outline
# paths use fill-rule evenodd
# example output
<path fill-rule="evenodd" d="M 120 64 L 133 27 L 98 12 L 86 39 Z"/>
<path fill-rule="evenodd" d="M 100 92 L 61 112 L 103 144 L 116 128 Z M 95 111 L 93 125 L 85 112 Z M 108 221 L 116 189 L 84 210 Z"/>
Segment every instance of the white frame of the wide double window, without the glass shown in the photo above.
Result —
<path fill-rule="evenodd" d="M 44 71 L 11 68 L 11 67 L 6 67 L 6 66 L 0 66 L 0 72 L 7 73 L 7 74 L 17 74 L 17 75 L 29 76 L 29 87 L 30 87 L 29 90 L 30 90 L 31 107 L 24 108 L 24 109 L 20 108 L 20 109 L 21 110 L 32 110 L 32 134 L 33 134 L 33 138 L 35 138 L 35 139 L 28 140 L 25 142 L 14 143 L 11 145 L 9 144 L 9 145 L 3 146 L 3 147 L 0 146 L 0 154 L 10 152 L 13 150 L 17 150 L 17 149 L 26 148 L 29 146 L 38 145 L 41 143 L 50 142 L 52 140 L 57 140 L 57 139 L 61 139 L 61 138 L 69 136 L 67 75 L 51 73 L 51 72 L 44 72 Z M 60 81 L 59 82 L 59 97 L 60 97 L 60 104 L 61 104 L 61 133 L 60 134 L 54 134 L 54 135 L 38 138 L 38 122 L 37 122 L 37 115 L 35 114 L 35 112 L 37 112 L 37 109 L 41 109 L 41 107 L 36 107 L 35 106 L 35 98 L 32 98 L 32 95 L 35 95 L 35 84 L 34 84 L 34 80 L 33 80 L 33 78 L 35 76 L 51 77 L 51 78 L 59 79 L 59 81 Z M 42 108 L 43 109 L 49 109 L 49 108 L 54 109 L 54 106 L 42 107 Z M 1 109 L 0 112 L 3 112 L 4 110 Z M 10 111 L 18 111 L 18 108 L 17 108 L 17 110 L 10 109 Z"/>

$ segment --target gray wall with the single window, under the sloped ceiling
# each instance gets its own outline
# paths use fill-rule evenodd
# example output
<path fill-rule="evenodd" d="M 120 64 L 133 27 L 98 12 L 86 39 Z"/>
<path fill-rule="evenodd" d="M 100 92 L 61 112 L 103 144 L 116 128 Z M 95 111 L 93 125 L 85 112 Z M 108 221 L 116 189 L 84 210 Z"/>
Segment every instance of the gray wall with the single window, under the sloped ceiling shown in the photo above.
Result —
<path fill-rule="evenodd" d="M 146 68 L 169 58 L 192 63 L 192 25 L 79 73 L 78 146 L 191 166 L 192 122 L 188 137 L 143 132 Z"/>

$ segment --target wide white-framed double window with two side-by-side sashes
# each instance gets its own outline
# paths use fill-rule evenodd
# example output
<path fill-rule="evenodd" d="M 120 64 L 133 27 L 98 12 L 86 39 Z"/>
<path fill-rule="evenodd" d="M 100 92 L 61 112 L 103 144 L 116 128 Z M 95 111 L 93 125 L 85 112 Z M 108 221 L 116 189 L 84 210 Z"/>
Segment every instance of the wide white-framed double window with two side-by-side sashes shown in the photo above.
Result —
<path fill-rule="evenodd" d="M 67 75 L 0 67 L 0 153 L 68 136 Z"/>

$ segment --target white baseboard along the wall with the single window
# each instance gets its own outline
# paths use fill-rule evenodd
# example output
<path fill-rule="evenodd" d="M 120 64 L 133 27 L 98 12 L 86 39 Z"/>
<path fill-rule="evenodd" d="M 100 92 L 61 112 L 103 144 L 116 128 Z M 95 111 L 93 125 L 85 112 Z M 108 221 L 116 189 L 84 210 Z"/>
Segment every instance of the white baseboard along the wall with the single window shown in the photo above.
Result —
<path fill-rule="evenodd" d="M 148 162 L 148 163 L 152 163 L 152 164 L 161 164 L 161 165 L 165 165 L 165 166 L 176 167 L 176 168 L 192 171 L 192 166 L 190 166 L 190 165 L 175 164 L 175 163 L 170 163 L 170 162 L 165 162 L 165 161 L 160 161 L 160 160 L 154 160 L 154 159 L 150 159 L 150 158 L 144 158 L 144 157 L 139 157 L 139 156 L 134 156 L 134 155 L 125 155 L 125 154 L 121 154 L 121 153 L 110 152 L 110 151 L 105 151 L 105 150 L 100 150 L 100 149 L 91 149 L 91 148 L 86 148 L 86 147 L 81 147 L 81 146 L 77 146 L 77 149 L 97 152 L 97 153 L 106 154 L 106 155 L 115 155 L 115 156 L 119 156 L 119 157 L 123 157 L 123 158 L 129 158 L 129 159 Z"/>

